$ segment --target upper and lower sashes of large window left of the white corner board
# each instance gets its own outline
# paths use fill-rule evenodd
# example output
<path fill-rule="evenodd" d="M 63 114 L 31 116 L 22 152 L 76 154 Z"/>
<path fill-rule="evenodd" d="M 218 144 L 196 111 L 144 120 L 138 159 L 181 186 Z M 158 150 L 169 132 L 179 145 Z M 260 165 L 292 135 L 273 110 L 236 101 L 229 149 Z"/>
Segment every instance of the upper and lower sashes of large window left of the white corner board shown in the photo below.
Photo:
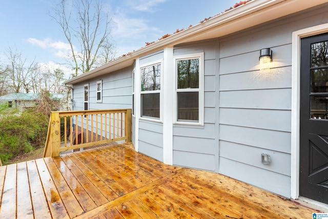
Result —
<path fill-rule="evenodd" d="M 141 117 L 160 118 L 161 64 L 140 68 Z"/>

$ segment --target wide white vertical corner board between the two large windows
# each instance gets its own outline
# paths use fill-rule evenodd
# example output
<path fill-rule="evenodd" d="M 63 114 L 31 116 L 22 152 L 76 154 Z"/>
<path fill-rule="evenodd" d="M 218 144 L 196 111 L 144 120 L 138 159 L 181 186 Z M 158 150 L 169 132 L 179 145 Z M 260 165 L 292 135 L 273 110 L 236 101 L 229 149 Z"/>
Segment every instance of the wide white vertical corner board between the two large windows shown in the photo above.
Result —
<path fill-rule="evenodd" d="M 173 47 L 164 49 L 163 54 L 163 83 L 162 83 L 162 103 L 161 112 L 163 121 L 163 163 L 173 165 Z"/>

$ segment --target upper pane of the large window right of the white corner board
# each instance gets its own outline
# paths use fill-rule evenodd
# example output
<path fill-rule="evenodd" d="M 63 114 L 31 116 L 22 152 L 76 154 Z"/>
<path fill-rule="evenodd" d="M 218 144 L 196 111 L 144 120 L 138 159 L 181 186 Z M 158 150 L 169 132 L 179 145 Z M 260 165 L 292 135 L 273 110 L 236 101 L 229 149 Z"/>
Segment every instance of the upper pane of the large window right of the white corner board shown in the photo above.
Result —
<path fill-rule="evenodd" d="M 177 61 L 177 88 L 199 88 L 199 59 Z"/>

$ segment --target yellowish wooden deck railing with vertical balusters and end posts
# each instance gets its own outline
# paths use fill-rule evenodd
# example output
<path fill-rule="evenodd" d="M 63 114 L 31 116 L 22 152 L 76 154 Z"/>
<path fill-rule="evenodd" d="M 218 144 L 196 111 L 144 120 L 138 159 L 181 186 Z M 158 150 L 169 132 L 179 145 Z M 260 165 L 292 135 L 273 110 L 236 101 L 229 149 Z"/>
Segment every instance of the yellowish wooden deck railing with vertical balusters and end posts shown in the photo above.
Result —
<path fill-rule="evenodd" d="M 131 109 L 51 112 L 44 157 L 118 141 L 131 142 Z"/>

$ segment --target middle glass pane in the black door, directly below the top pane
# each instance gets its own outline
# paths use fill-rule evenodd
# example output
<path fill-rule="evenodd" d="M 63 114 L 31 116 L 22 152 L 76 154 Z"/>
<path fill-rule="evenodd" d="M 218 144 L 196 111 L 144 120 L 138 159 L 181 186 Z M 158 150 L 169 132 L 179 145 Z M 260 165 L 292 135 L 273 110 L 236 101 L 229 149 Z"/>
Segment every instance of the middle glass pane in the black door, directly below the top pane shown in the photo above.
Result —
<path fill-rule="evenodd" d="M 328 69 L 311 70 L 311 93 L 328 92 Z"/>

